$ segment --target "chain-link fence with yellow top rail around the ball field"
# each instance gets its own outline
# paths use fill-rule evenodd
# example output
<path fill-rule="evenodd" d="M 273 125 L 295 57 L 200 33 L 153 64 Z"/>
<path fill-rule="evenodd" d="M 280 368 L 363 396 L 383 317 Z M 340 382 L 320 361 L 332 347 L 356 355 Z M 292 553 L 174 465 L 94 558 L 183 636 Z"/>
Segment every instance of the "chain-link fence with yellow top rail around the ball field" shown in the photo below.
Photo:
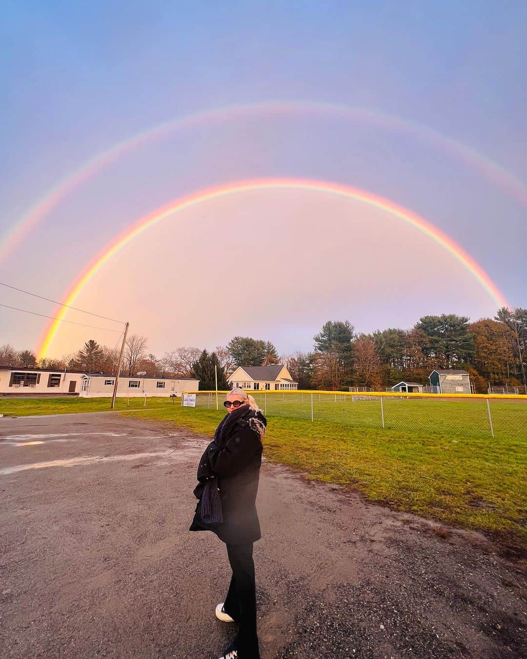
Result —
<path fill-rule="evenodd" d="M 194 391 L 196 407 L 216 410 L 215 391 Z M 527 439 L 526 395 L 250 391 L 265 416 L 339 426 L 453 437 Z M 225 414 L 227 391 L 218 392 Z"/>

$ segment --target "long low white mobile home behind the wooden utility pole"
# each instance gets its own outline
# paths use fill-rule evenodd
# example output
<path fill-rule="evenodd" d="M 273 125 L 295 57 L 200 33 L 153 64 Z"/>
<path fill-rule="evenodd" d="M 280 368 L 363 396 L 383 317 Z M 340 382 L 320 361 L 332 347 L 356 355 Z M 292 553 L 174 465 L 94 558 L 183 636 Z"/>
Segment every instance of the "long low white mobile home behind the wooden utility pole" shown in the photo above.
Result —
<path fill-rule="evenodd" d="M 82 398 L 109 398 L 113 395 L 115 376 L 90 374 L 83 375 L 80 384 Z M 119 377 L 117 397 L 128 396 L 169 396 L 173 393 L 180 396 L 183 391 L 198 391 L 200 381 L 194 378 L 154 378 L 147 376 Z"/>

